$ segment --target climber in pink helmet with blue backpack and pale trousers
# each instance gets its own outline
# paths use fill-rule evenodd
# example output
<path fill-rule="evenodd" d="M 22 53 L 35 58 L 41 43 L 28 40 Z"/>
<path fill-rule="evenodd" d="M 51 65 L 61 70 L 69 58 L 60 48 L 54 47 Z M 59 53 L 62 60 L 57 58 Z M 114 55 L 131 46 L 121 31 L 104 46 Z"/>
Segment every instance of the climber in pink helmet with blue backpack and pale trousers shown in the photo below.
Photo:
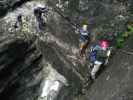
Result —
<path fill-rule="evenodd" d="M 89 53 L 89 61 L 91 63 L 91 79 L 95 79 L 96 73 L 99 71 L 100 66 L 105 63 L 106 59 L 108 58 L 108 47 L 109 43 L 106 40 L 100 40 L 95 44 L 92 44 Z M 107 62 L 106 62 L 107 63 Z"/>

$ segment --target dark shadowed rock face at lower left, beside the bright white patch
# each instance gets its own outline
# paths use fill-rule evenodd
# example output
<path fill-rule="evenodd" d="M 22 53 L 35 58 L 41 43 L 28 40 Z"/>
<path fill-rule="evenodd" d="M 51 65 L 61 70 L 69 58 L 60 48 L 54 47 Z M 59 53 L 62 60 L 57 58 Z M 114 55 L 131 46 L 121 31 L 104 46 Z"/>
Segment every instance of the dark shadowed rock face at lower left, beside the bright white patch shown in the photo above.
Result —
<path fill-rule="evenodd" d="M 0 98 L 33 100 L 40 92 L 41 53 L 33 41 L 13 36 L 0 38 Z"/>

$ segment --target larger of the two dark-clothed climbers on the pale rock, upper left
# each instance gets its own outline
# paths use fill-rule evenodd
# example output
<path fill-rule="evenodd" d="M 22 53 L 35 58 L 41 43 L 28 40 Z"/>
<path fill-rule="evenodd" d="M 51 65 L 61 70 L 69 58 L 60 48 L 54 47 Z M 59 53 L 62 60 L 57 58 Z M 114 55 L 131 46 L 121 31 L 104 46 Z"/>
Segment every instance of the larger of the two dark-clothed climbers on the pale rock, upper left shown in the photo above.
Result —
<path fill-rule="evenodd" d="M 37 26 L 38 31 L 44 30 L 44 27 L 46 25 L 44 17 L 46 18 L 47 12 L 48 12 L 48 8 L 45 6 L 42 6 L 42 5 L 38 5 L 34 9 L 34 15 L 35 15 L 37 23 L 38 23 L 38 26 Z"/>

